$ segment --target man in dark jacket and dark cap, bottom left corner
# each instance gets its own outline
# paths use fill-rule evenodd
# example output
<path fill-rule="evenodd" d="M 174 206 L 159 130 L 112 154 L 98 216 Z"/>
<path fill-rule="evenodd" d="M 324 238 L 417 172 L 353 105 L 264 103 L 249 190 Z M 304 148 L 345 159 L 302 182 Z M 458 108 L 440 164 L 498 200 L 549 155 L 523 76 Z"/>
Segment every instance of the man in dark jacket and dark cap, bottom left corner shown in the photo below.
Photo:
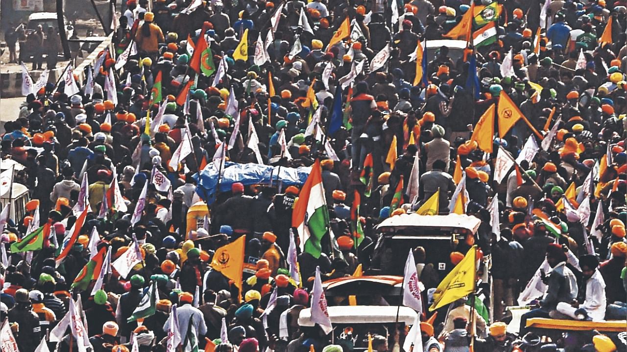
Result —
<path fill-rule="evenodd" d="M 15 306 L 7 314 L 9 323 L 18 323 L 19 332 L 16 336 L 21 352 L 33 352 L 41 341 L 40 319 L 31 309 L 28 290 L 18 289 L 15 292 Z"/>

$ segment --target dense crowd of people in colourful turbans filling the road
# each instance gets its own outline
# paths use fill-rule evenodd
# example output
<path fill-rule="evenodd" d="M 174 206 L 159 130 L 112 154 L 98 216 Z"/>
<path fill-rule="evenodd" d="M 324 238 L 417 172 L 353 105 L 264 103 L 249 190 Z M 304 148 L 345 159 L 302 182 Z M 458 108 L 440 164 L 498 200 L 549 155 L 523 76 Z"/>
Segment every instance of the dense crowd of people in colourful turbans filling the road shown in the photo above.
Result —
<path fill-rule="evenodd" d="M 406 214 L 480 220 L 413 249 L 425 352 L 626 351 L 624 333 L 525 324 L 627 316 L 626 6 L 127 0 L 84 75 L 3 111 L 19 115 L 0 146 L 19 163 L 3 166 L 3 351 L 351 352 L 363 341 L 298 314 L 317 268 L 403 275 L 376 226 Z M 203 187 L 236 164 L 311 176 Z M 240 282 L 219 266 L 238 241 Z M 493 288 L 432 316 L 469 251 Z M 442 256 L 445 272 L 427 260 Z M 408 330 L 370 347 L 400 351 Z"/>

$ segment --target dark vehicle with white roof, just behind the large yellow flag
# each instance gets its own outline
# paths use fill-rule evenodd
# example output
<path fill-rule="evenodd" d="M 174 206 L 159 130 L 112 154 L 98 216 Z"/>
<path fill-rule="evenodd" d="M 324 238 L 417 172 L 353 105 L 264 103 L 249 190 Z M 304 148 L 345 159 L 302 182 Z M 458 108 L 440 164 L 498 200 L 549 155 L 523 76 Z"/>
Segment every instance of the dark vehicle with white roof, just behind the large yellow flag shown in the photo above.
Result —
<path fill-rule="evenodd" d="M 468 236 L 477 240 L 477 230 L 481 220 L 473 215 L 419 215 L 416 213 L 394 215 L 376 226 L 379 232 L 374 247 L 374 257 L 384 253 L 398 254 L 391 258 L 386 267 L 373 261 L 374 269 L 382 275 L 403 275 L 403 268 L 409 248 L 422 246 L 426 252 L 426 264 L 433 264 L 441 277 L 448 274 L 453 266 L 450 262 L 451 250 L 455 243 L 463 243 Z M 378 267 L 377 267 L 378 265 Z"/>

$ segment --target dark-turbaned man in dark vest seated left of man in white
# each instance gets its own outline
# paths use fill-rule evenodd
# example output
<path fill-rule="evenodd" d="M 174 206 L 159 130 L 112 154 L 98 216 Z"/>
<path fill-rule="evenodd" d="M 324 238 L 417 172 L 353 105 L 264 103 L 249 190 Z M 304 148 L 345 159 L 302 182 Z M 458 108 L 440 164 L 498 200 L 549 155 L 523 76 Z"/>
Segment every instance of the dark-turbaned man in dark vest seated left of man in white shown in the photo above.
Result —
<path fill-rule="evenodd" d="M 566 253 L 562 246 L 556 243 L 546 247 L 546 259 L 551 266 L 551 274 L 546 276 L 542 272 L 542 281 L 547 283 L 547 292 L 539 302 L 539 308 L 522 314 L 520 318 L 520 334 L 527 333 L 527 319 L 550 318 L 549 313 L 557 308 L 561 302 L 572 303 L 577 298 L 577 278 L 571 269 L 566 266 Z"/>

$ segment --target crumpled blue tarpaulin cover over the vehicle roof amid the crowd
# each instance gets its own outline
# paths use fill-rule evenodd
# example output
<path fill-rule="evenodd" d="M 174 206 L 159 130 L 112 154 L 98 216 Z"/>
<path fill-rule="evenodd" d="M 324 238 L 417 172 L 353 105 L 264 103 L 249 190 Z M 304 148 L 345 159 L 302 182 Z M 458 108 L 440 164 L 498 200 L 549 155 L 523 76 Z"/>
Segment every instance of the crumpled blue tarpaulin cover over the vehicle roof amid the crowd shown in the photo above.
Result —
<path fill-rule="evenodd" d="M 218 165 L 209 163 L 204 170 L 194 175 L 196 193 L 208 204 L 216 199 L 218 185 Z M 284 186 L 302 185 L 307 181 L 311 172 L 310 167 L 278 167 L 260 165 L 256 163 L 224 163 L 224 170 L 220 178 L 220 192 L 230 192 L 231 185 L 241 182 L 243 185 L 270 184 L 282 182 Z"/>

